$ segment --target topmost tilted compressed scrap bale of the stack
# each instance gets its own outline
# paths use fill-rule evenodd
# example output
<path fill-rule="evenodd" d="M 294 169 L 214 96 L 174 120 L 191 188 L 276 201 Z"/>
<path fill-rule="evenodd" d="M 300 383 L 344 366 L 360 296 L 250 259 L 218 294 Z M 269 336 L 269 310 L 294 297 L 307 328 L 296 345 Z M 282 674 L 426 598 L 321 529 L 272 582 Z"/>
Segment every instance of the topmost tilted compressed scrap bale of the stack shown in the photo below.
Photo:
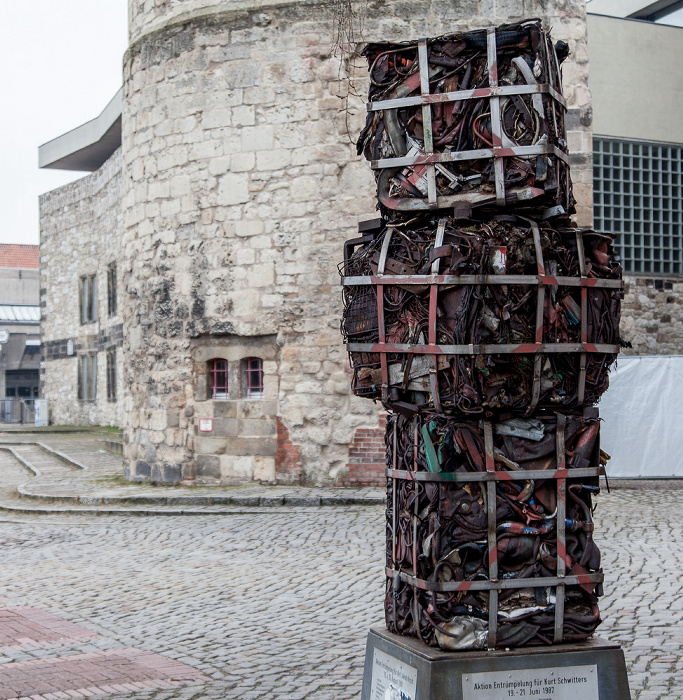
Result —
<path fill-rule="evenodd" d="M 357 151 L 372 162 L 384 214 L 506 205 L 573 213 L 567 53 L 538 20 L 368 45 Z"/>

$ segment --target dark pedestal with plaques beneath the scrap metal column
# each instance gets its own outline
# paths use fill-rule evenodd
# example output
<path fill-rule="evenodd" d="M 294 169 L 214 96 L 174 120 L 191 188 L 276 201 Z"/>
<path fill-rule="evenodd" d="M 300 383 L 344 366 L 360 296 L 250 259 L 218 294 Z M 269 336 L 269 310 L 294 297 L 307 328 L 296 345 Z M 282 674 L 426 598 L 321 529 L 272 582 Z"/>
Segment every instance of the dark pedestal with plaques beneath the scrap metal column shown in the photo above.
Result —
<path fill-rule="evenodd" d="M 362 700 L 631 700 L 624 653 L 591 639 L 556 647 L 446 652 L 377 625 Z"/>

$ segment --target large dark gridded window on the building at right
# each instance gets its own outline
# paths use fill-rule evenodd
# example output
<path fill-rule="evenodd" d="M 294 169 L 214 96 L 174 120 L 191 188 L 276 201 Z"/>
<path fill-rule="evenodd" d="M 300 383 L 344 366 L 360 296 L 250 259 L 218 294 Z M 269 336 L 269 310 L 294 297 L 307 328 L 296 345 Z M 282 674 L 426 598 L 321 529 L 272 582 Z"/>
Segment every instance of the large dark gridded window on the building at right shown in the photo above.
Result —
<path fill-rule="evenodd" d="M 593 139 L 595 230 L 626 272 L 683 274 L 682 162 L 682 146 Z"/>

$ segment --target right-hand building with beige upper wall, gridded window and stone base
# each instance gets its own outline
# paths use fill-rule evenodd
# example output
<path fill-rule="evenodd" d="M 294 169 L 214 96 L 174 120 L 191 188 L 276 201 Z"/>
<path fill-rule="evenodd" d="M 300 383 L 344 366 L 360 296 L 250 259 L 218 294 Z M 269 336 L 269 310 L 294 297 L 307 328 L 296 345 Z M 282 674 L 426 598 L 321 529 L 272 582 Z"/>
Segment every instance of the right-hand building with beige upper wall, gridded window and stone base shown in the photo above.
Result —
<path fill-rule="evenodd" d="M 680 354 L 683 28 L 589 14 L 588 37 L 594 226 L 616 234 L 625 271 L 624 352 Z"/>

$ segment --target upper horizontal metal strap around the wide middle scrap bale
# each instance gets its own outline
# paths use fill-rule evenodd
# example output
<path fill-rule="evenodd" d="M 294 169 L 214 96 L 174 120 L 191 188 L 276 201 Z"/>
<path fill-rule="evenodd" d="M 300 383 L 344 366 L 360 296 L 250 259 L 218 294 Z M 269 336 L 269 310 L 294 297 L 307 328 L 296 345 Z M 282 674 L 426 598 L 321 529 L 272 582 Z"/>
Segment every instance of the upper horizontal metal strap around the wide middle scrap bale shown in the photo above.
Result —
<path fill-rule="evenodd" d="M 381 262 L 381 260 L 380 260 Z M 586 287 L 589 289 L 623 289 L 624 280 L 597 279 L 593 277 L 552 277 L 550 275 L 357 275 L 342 278 L 345 287 L 361 287 L 373 284 L 395 286 L 412 285 L 474 285 L 515 284 L 558 287 Z"/>

